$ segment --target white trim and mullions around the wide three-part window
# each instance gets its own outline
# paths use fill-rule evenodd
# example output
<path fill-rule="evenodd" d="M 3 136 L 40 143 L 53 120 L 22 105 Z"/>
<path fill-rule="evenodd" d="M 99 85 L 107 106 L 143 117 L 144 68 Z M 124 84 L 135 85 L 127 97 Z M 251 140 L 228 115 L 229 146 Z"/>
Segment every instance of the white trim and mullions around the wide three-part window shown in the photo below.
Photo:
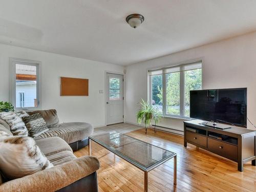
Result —
<path fill-rule="evenodd" d="M 152 103 L 152 81 L 150 76 L 150 71 L 158 71 L 158 70 L 166 70 L 167 68 L 175 68 L 180 67 L 184 68 L 186 65 L 190 65 L 191 63 L 201 62 L 201 70 L 202 70 L 202 88 L 203 88 L 203 58 L 200 59 L 194 59 L 186 62 L 176 63 L 175 65 L 171 66 L 163 66 L 161 68 L 157 69 L 148 69 L 147 70 L 147 76 L 148 76 L 148 98 L 150 98 L 150 103 Z M 185 96 L 185 79 L 184 79 L 184 71 L 180 70 L 180 115 L 169 115 L 166 114 L 166 76 L 165 72 L 162 74 L 162 94 L 163 94 L 163 105 L 162 105 L 162 117 L 164 118 L 174 118 L 174 119 L 190 119 L 190 117 L 184 115 L 184 109 L 185 109 L 185 102 L 184 102 L 184 96 Z"/>

